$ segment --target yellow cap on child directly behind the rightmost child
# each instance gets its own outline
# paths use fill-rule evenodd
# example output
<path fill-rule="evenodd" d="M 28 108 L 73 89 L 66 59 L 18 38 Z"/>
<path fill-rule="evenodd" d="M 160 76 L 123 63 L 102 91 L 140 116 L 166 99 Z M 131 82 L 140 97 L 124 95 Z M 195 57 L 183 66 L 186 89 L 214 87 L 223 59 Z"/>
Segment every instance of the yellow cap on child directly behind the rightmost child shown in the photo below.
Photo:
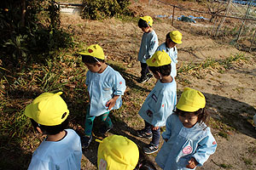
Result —
<path fill-rule="evenodd" d="M 162 66 L 171 64 L 172 60 L 166 51 L 157 51 L 151 58 L 147 59 L 147 65 L 149 66 Z"/>

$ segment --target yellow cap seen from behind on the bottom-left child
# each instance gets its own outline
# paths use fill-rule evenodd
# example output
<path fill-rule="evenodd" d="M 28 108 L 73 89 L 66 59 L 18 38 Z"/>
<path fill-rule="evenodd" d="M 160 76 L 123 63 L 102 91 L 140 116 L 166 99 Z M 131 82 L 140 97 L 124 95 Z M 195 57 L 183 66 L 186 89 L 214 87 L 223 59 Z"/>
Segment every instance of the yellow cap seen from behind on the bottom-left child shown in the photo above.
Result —
<path fill-rule="evenodd" d="M 26 106 L 25 115 L 45 126 L 61 124 L 69 115 L 67 104 L 61 98 L 61 94 L 62 92 L 40 94 L 32 104 Z"/>

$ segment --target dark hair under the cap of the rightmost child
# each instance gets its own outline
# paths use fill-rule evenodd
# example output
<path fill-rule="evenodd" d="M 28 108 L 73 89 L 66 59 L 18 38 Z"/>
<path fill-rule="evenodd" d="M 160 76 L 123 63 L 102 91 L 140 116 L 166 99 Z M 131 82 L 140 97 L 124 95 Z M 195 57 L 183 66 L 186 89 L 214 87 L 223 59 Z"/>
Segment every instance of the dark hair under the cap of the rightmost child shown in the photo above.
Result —
<path fill-rule="evenodd" d="M 176 115 L 180 115 L 180 116 L 184 116 L 189 113 L 194 113 L 195 116 L 198 116 L 197 122 L 199 122 L 200 124 L 202 124 L 203 122 L 207 123 L 208 111 L 205 108 L 199 109 L 198 111 L 194 111 L 194 112 L 181 111 L 179 109 L 176 109 L 176 111 L 174 113 Z"/>

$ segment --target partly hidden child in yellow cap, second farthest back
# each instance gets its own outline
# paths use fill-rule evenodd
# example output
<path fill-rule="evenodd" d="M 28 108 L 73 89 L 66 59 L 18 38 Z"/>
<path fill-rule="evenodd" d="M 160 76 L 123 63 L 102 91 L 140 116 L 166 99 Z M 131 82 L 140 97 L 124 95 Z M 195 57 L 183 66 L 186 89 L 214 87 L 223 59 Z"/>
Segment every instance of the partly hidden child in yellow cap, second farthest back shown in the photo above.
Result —
<path fill-rule="evenodd" d="M 176 64 L 177 64 L 177 44 L 182 43 L 182 33 L 179 31 L 170 31 L 166 34 L 166 42 L 162 43 L 158 48 L 157 51 L 165 50 L 166 53 L 171 57 L 172 59 L 172 71 L 171 76 L 172 78 L 175 78 L 177 76 L 176 71 Z"/>

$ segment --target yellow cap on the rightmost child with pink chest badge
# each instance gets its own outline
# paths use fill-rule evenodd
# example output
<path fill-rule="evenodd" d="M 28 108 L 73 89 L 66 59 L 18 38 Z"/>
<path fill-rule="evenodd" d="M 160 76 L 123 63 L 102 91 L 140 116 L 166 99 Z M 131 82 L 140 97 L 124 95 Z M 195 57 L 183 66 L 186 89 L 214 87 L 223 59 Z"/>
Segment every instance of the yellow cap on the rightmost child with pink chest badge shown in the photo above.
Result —
<path fill-rule="evenodd" d="M 181 111 L 194 112 L 206 106 L 206 99 L 204 94 L 200 91 L 184 88 L 183 94 L 177 102 L 177 109 Z"/>

